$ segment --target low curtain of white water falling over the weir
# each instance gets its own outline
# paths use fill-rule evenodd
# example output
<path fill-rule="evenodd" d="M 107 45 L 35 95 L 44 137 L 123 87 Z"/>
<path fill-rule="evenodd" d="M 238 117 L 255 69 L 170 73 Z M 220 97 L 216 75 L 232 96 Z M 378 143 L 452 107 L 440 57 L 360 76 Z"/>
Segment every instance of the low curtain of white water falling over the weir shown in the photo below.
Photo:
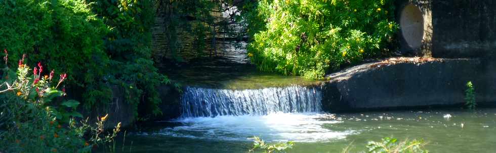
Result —
<path fill-rule="evenodd" d="M 321 93 L 318 88 L 302 86 L 245 90 L 186 87 L 181 105 L 182 117 L 320 112 Z"/>

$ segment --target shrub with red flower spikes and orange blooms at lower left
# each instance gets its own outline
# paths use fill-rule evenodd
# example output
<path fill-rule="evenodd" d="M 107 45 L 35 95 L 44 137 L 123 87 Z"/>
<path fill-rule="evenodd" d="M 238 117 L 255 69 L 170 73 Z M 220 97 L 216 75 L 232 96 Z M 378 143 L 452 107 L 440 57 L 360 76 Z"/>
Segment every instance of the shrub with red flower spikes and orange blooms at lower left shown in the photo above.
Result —
<path fill-rule="evenodd" d="M 8 56 L 4 59 L 7 61 Z M 31 71 L 24 60 L 19 61 L 17 72 L 4 69 L 0 84 L 0 152 L 91 152 L 94 146 L 113 141 L 120 123 L 107 134 L 103 133 L 107 116 L 98 119 L 97 127 L 90 126 L 88 119 L 77 124 L 74 118 L 82 117 L 75 112 L 79 103 L 54 100 L 65 96 L 65 89 L 58 88 L 67 74 L 55 81 L 53 70 L 45 76 L 42 72 L 42 64 Z M 85 140 L 85 136 L 90 139 Z"/>

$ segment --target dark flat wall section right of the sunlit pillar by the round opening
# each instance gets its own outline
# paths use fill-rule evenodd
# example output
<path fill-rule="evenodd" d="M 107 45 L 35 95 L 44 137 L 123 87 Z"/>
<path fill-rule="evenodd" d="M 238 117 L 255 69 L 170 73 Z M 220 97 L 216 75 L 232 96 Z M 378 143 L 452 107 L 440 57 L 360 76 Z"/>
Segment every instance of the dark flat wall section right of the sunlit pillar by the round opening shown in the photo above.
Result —
<path fill-rule="evenodd" d="M 432 2 L 433 57 L 483 57 L 496 49 L 496 1 Z"/>

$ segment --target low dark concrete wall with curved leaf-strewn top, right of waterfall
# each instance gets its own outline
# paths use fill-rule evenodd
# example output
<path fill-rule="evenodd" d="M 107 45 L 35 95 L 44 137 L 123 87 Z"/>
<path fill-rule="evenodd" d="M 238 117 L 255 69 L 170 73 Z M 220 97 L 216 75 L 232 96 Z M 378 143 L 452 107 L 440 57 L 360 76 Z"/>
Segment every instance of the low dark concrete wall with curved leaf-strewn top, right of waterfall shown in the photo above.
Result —
<path fill-rule="evenodd" d="M 391 62 L 393 61 L 393 62 Z M 330 74 L 322 84 L 327 111 L 459 105 L 472 81 L 478 103 L 496 101 L 496 64 L 479 59 L 378 62 Z"/>

